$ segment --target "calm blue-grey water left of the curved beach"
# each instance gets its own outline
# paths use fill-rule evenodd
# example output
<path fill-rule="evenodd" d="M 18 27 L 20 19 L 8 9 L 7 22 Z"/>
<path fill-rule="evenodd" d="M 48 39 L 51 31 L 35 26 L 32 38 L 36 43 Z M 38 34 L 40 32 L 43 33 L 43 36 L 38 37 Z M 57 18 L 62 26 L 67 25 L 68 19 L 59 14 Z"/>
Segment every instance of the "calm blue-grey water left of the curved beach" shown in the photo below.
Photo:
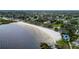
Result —
<path fill-rule="evenodd" d="M 17 24 L 0 25 L 0 48 L 1 49 L 34 49 L 40 48 L 38 41 L 31 29 L 26 29 Z"/>

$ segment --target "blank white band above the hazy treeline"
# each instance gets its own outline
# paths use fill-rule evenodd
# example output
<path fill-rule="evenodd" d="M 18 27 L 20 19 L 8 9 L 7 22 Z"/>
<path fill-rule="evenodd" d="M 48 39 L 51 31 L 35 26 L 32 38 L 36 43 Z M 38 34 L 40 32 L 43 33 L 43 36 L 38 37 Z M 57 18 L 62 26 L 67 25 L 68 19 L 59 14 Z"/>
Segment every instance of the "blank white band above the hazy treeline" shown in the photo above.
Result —
<path fill-rule="evenodd" d="M 79 1 L 0 0 L 0 10 L 79 10 Z"/>

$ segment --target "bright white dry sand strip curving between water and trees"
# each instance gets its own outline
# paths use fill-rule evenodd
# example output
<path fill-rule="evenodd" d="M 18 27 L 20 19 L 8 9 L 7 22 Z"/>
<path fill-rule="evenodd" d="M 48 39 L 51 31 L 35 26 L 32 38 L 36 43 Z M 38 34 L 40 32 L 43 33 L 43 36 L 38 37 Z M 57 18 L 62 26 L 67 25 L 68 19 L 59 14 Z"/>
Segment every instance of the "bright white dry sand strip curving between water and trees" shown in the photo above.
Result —
<path fill-rule="evenodd" d="M 25 22 L 17 22 L 18 25 L 20 26 L 29 26 L 32 28 L 32 30 L 36 31 L 38 30 L 39 32 L 43 32 L 46 36 L 49 37 L 48 43 L 50 43 L 50 45 L 53 45 L 56 43 L 56 41 L 61 39 L 61 34 L 59 32 L 50 30 L 48 28 L 44 28 L 41 26 L 37 26 L 37 25 L 33 25 L 33 24 L 29 24 L 29 23 L 25 23 Z"/>

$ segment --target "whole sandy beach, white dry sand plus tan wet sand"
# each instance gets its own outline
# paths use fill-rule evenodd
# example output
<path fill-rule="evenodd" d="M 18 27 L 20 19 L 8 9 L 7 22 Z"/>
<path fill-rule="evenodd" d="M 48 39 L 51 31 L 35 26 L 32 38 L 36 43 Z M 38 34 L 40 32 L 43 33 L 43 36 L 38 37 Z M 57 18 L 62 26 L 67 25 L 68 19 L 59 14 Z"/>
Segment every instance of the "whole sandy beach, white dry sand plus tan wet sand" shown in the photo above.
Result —
<path fill-rule="evenodd" d="M 26 28 L 26 26 L 29 26 L 31 28 L 31 30 L 34 32 L 34 35 L 36 33 L 35 36 L 36 36 L 38 41 L 39 41 L 38 38 L 40 36 L 42 38 L 41 39 L 42 42 L 46 42 L 50 45 L 53 45 L 56 43 L 56 41 L 61 39 L 60 33 L 56 32 L 54 30 L 50 30 L 48 28 L 40 27 L 37 25 L 25 23 L 25 22 L 18 22 L 17 24 L 24 27 L 24 28 Z"/>

